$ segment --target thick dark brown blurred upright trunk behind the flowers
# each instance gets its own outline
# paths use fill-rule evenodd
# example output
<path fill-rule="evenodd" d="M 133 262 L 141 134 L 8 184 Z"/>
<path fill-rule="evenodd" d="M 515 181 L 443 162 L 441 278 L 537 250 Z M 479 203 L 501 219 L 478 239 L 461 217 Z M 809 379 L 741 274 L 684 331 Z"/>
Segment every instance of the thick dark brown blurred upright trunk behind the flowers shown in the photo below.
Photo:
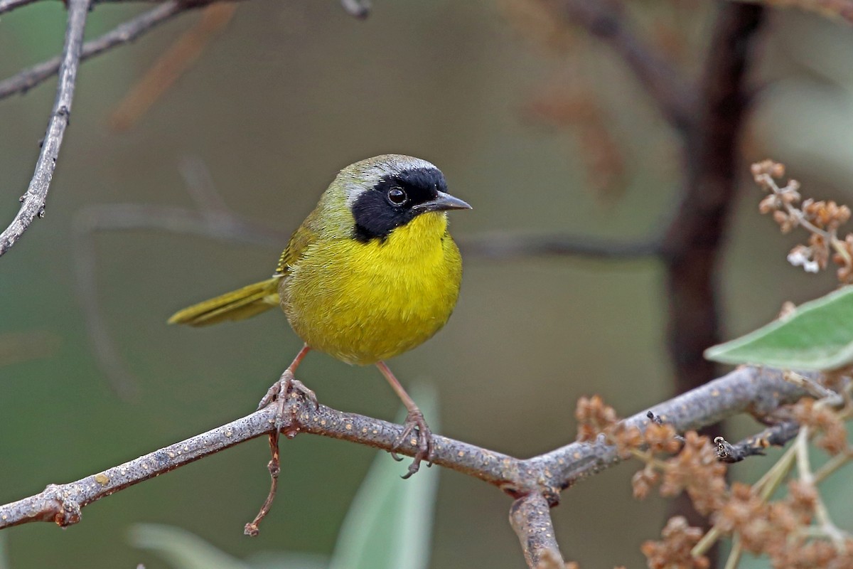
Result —
<path fill-rule="evenodd" d="M 711 380 L 717 367 L 702 356 L 720 343 L 717 259 L 735 204 L 738 142 L 746 119 L 751 39 L 763 7 L 720 4 L 708 47 L 697 124 L 687 136 L 681 203 L 664 237 L 668 344 L 677 392 Z"/>

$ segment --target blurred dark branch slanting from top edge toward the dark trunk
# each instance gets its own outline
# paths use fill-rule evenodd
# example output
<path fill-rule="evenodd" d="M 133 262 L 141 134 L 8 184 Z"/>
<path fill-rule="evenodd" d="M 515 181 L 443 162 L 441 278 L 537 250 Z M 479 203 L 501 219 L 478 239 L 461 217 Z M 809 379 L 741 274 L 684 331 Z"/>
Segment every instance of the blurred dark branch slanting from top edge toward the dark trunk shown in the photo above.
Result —
<path fill-rule="evenodd" d="M 617 0 L 547 0 L 547 3 L 566 20 L 610 44 L 676 130 L 686 131 L 693 124 L 695 93 L 663 55 L 635 35 L 621 3 Z"/>

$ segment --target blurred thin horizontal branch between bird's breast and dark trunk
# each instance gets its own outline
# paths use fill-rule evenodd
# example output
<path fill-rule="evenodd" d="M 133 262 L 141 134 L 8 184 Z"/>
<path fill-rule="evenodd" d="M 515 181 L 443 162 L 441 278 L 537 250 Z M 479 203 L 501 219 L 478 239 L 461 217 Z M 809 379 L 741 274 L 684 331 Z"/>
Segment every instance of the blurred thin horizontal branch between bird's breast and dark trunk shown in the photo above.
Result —
<path fill-rule="evenodd" d="M 534 256 L 574 255 L 586 258 L 631 259 L 653 257 L 659 253 L 656 241 L 596 241 L 577 235 L 491 234 L 459 242 L 466 257 L 512 259 Z"/>

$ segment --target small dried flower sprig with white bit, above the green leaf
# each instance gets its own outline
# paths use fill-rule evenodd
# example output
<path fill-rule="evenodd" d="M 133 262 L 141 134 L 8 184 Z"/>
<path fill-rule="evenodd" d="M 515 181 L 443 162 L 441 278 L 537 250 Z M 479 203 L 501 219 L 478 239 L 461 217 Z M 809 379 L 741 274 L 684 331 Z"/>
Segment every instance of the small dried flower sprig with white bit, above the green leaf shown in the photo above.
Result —
<path fill-rule="evenodd" d="M 764 160 L 752 165 L 755 182 L 769 193 L 758 205 L 758 211 L 770 213 L 782 233 L 795 227 L 809 231 L 807 244 L 798 245 L 788 253 L 788 262 L 816 273 L 826 269 L 829 261 L 838 265 L 838 281 L 853 284 L 853 234 L 838 237 L 838 228 L 850 219 L 850 208 L 832 200 L 802 200 L 797 180 L 788 180 L 780 187 L 777 180 L 785 177 L 785 165 Z"/>

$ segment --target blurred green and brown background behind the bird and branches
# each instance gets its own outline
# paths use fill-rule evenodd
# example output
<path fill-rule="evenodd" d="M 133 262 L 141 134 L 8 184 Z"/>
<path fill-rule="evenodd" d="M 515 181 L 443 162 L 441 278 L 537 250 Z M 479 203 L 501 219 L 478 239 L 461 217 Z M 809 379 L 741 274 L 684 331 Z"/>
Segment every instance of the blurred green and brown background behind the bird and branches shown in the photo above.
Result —
<path fill-rule="evenodd" d="M 691 75 L 717 5 L 675 7 L 633 9 L 660 44 L 662 30 L 676 31 L 680 43 L 666 45 Z M 98 5 L 87 37 L 138 11 Z M 246 414 L 299 349 L 279 313 L 200 330 L 165 325 L 184 305 L 269 275 L 275 247 L 102 232 L 98 299 L 136 396 L 111 390 L 84 332 L 73 218 L 94 204 L 193 207 L 179 170 L 188 157 L 206 164 L 235 214 L 285 232 L 339 168 L 389 152 L 431 160 L 452 193 L 473 204 L 473 212 L 452 216 L 460 241 L 516 230 L 613 239 L 657 231 L 677 203 L 676 137 L 606 46 L 575 31 L 554 47 L 527 12 L 520 0 L 405 0 L 376 2 L 359 21 L 332 0 L 241 3 L 189 73 L 124 133 L 108 128 L 109 113 L 200 15 L 85 63 L 47 216 L 0 260 L 0 501 Z M 64 21 L 61 3 L 4 15 L 0 76 L 55 55 Z M 745 176 L 721 266 L 727 338 L 769 321 L 785 300 L 834 286 L 832 275 L 805 276 L 786 264 L 802 235 L 781 237 L 758 215 L 749 161 L 784 161 L 804 195 L 850 203 L 853 32 L 816 15 L 775 11 L 761 38 Z M 608 172 L 589 169 L 584 136 L 531 113 L 537 97 L 580 78 L 597 94 L 601 125 L 615 142 L 613 170 L 624 172 L 606 190 L 595 189 Z M 2 224 L 32 175 L 54 87 L 49 81 L 0 101 Z M 670 396 L 661 276 L 654 261 L 467 258 L 450 323 L 392 368 L 405 384 L 437 387 L 443 434 L 514 456 L 550 450 L 574 438 L 581 395 L 601 393 L 624 415 Z M 324 404 L 389 419 L 397 411 L 375 369 L 313 354 L 300 373 Z M 744 434 L 750 425 L 736 428 Z M 249 539 L 242 526 L 266 495 L 268 453 L 263 439 L 242 444 L 97 502 L 64 531 L 49 524 L 5 531 L 10 566 L 165 567 L 128 545 L 137 522 L 181 526 L 239 557 L 262 549 L 328 553 L 374 452 L 309 436 L 287 441 L 287 491 L 261 535 Z M 746 469 L 770 460 L 735 473 L 749 477 Z M 566 491 L 553 513 L 567 559 L 645 565 L 639 545 L 659 535 L 665 503 L 633 501 L 634 469 L 623 465 Z M 432 567 L 524 566 L 509 504 L 490 486 L 442 472 Z"/>

